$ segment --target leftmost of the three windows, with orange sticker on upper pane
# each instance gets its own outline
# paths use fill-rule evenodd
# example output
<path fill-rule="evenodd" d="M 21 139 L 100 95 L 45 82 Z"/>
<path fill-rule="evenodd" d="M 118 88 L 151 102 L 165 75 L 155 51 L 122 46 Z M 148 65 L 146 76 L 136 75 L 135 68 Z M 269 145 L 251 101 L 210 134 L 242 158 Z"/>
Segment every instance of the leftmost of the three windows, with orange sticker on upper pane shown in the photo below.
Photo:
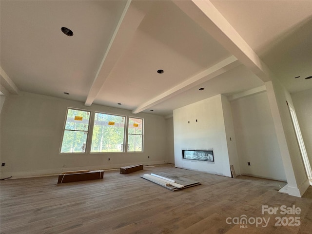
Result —
<path fill-rule="evenodd" d="M 88 137 L 90 111 L 67 109 L 60 153 L 84 153 Z"/>

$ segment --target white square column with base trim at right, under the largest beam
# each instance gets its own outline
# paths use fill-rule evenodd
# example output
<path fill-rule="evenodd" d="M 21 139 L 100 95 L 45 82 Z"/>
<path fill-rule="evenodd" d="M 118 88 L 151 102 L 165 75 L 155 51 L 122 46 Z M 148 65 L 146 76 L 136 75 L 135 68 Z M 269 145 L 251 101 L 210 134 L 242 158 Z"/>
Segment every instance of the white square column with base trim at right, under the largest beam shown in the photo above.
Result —
<path fill-rule="evenodd" d="M 266 82 L 265 86 L 287 178 L 287 185 L 280 192 L 300 197 L 310 184 L 300 156 L 299 146 L 287 106 L 287 102 L 292 103 L 292 98 L 290 93 L 276 78 Z"/>

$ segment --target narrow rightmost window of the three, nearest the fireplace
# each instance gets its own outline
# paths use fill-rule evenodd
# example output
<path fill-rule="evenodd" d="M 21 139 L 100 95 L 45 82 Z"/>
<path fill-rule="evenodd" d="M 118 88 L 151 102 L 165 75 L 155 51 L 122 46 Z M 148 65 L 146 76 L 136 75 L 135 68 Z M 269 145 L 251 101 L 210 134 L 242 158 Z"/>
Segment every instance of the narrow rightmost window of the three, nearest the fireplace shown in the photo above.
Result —
<path fill-rule="evenodd" d="M 129 117 L 128 152 L 143 151 L 143 119 Z"/>

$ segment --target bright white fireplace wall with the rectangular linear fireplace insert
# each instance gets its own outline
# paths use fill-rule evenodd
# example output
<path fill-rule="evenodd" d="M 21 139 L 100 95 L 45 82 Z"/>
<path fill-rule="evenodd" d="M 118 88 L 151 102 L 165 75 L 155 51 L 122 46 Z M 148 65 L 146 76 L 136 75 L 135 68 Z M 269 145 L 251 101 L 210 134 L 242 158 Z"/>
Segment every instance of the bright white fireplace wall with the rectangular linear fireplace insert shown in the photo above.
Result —
<path fill-rule="evenodd" d="M 176 167 L 231 176 L 221 95 L 174 110 L 174 140 Z M 215 162 L 183 160 L 183 149 L 213 150 Z"/>

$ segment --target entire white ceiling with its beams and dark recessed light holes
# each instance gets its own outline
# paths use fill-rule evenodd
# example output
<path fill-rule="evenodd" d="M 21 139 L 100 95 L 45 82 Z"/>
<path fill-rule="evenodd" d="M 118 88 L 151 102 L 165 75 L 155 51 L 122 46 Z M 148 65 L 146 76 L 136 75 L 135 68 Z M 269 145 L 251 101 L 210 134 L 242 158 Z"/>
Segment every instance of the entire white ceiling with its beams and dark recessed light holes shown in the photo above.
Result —
<path fill-rule="evenodd" d="M 312 1 L 206 1 L 213 16 L 202 3 L 1 0 L 1 92 L 167 116 L 204 98 L 262 86 L 253 56 L 246 62 L 243 50 L 236 52 L 245 42 L 291 93 L 312 88 L 304 79 L 312 76 Z M 230 23 L 238 42 L 206 27 L 218 12 L 216 25 Z"/>

